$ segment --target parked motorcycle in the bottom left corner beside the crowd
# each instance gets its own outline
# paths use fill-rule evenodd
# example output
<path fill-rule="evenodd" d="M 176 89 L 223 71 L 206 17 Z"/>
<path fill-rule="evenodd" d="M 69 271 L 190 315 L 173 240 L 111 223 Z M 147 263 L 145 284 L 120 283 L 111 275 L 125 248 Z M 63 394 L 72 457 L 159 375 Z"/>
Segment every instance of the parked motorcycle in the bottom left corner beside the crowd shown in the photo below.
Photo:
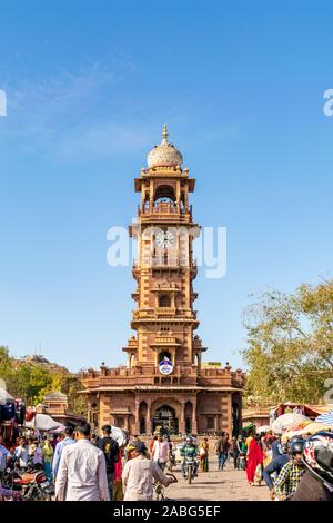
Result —
<path fill-rule="evenodd" d="M 24 472 L 13 478 L 13 489 L 20 490 L 24 501 L 52 501 L 53 485 L 43 471 Z"/>

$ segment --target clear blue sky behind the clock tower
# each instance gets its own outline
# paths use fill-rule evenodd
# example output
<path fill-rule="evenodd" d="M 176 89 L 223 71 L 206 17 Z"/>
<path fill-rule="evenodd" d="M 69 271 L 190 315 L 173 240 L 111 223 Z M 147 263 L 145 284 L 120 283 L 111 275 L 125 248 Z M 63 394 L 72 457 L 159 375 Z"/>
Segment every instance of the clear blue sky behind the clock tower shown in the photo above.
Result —
<path fill-rule="evenodd" d="M 1 1 L 0 343 L 124 362 L 131 270 L 107 264 L 133 178 L 170 140 L 228 273 L 195 282 L 206 359 L 241 365 L 249 294 L 332 277 L 329 1 Z"/>

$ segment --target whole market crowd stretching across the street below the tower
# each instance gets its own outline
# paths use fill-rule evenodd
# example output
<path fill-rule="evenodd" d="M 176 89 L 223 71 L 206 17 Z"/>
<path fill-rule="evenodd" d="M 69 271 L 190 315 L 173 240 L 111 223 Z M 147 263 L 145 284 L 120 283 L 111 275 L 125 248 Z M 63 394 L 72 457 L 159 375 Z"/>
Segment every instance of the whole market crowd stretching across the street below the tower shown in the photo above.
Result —
<path fill-rule="evenodd" d="M 181 472 L 186 478 L 186 463 L 193 464 L 193 477 L 210 468 L 210 440 L 188 435 L 178 445 Z M 152 500 L 154 487 L 168 486 L 174 476 L 168 470 L 175 464 L 175 447 L 168 435 L 155 434 L 145 445 L 139 436 L 121 445 L 112 437 L 112 427 L 104 425 L 101 435 L 89 424 L 67 427 L 61 436 L 30 435 L 14 445 L 4 446 L 0 436 L 0 499 L 19 499 L 8 489 L 4 471 L 10 461 L 24 473 L 42 470 L 54 485 L 56 501 L 137 501 Z M 218 471 L 233 462 L 236 471 L 246 473 L 251 487 L 263 482 L 275 501 L 333 501 L 333 433 L 294 437 L 284 442 L 268 431 L 238 437 L 225 432 L 214 443 Z"/>

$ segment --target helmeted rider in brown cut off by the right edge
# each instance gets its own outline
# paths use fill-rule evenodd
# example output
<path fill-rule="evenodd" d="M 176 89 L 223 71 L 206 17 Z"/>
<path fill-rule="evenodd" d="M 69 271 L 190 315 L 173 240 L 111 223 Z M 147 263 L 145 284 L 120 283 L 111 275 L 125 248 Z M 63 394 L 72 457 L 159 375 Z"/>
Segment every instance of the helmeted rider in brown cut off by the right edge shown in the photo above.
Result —
<path fill-rule="evenodd" d="M 304 443 L 306 472 L 292 501 L 333 501 L 333 433 L 319 432 Z"/>

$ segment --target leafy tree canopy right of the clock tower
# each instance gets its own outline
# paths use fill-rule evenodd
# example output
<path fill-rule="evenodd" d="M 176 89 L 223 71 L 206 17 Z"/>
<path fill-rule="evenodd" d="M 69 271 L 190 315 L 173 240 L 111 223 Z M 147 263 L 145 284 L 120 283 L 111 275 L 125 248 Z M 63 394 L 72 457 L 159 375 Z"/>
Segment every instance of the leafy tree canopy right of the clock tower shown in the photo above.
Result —
<path fill-rule="evenodd" d="M 333 377 L 333 280 L 292 294 L 268 290 L 248 308 L 244 324 L 248 395 L 323 402 Z"/>

